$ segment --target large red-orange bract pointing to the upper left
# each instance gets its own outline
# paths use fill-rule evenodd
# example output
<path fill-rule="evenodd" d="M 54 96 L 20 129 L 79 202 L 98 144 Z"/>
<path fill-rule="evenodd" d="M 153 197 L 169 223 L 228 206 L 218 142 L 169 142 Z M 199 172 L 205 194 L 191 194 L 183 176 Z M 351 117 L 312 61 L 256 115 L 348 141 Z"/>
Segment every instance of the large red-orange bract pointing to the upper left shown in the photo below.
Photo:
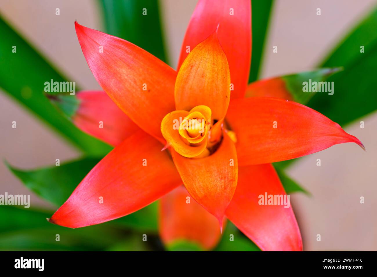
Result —
<path fill-rule="evenodd" d="M 176 71 L 129 41 L 77 22 L 75 28 L 90 70 L 103 90 L 141 129 L 163 142 L 159 125 L 175 106 Z M 98 51 L 100 46 L 103 53 Z"/>

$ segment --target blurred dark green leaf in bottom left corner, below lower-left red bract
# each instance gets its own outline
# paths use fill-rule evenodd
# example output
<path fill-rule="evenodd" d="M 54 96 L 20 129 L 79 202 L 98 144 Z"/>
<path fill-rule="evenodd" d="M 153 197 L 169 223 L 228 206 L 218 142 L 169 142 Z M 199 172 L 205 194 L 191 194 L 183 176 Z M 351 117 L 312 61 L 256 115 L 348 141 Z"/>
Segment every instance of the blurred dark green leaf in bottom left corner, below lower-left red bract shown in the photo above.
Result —
<path fill-rule="evenodd" d="M 123 231 L 110 224 L 71 229 L 49 223 L 51 214 L 31 208 L 0 207 L 0 250 L 104 250 Z M 59 234 L 60 241 L 56 241 Z"/>

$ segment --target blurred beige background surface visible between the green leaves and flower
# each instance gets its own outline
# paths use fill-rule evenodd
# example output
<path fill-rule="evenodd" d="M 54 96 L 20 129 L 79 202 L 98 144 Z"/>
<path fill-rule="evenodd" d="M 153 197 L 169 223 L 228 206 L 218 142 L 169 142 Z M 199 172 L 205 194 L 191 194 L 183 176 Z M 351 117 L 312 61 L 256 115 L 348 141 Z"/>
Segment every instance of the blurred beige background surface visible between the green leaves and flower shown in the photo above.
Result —
<path fill-rule="evenodd" d="M 265 44 L 262 77 L 312 69 L 376 4 L 377 0 L 277 0 Z M 173 67 L 195 5 L 196 0 L 161 0 Z M 55 16 L 55 8 L 60 8 L 60 16 Z M 317 8 L 321 8 L 321 16 L 316 15 Z M 96 1 L 1 0 L 0 13 L 81 87 L 100 89 L 74 30 L 74 21 L 78 20 L 84 26 L 104 31 Z M 277 54 L 272 53 L 274 45 L 278 46 Z M 17 129 L 11 129 L 14 120 Z M 360 129 L 360 120 L 365 122 L 365 129 Z M 356 144 L 335 145 L 301 159 L 288 171 L 312 194 L 291 196 L 304 250 L 377 250 L 377 114 L 360 120 L 345 130 L 357 136 L 367 152 Z M 17 167 L 44 167 L 53 165 L 57 158 L 67 161 L 79 156 L 75 148 L 3 93 L 0 126 L 0 158 Z M 316 166 L 317 158 L 322 161 L 320 167 Z M 29 193 L 3 163 L 0 176 L 0 193 Z M 365 204 L 360 204 L 360 196 L 365 197 Z M 48 206 L 35 195 L 31 201 L 32 205 Z M 317 234 L 321 234 L 320 242 L 316 241 Z"/>

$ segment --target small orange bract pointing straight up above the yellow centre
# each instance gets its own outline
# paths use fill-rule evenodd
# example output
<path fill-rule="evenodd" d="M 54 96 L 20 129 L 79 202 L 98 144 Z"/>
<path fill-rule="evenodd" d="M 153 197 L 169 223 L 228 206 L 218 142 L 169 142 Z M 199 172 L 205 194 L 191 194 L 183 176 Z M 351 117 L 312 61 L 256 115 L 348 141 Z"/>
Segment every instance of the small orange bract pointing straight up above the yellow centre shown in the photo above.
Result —
<path fill-rule="evenodd" d="M 212 119 L 224 118 L 230 100 L 230 72 L 227 57 L 216 33 L 199 43 L 183 62 L 175 81 L 177 110 L 205 105 Z"/>

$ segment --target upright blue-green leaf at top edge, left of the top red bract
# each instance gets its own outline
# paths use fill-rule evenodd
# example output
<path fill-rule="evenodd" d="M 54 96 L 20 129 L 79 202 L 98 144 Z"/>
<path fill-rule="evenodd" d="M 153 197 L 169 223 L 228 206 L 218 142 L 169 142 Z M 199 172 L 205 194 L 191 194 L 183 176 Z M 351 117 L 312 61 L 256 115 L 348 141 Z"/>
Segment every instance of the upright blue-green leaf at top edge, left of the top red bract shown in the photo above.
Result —
<path fill-rule="evenodd" d="M 130 41 L 166 62 L 159 1 L 99 0 L 99 3 L 107 34 Z"/>

